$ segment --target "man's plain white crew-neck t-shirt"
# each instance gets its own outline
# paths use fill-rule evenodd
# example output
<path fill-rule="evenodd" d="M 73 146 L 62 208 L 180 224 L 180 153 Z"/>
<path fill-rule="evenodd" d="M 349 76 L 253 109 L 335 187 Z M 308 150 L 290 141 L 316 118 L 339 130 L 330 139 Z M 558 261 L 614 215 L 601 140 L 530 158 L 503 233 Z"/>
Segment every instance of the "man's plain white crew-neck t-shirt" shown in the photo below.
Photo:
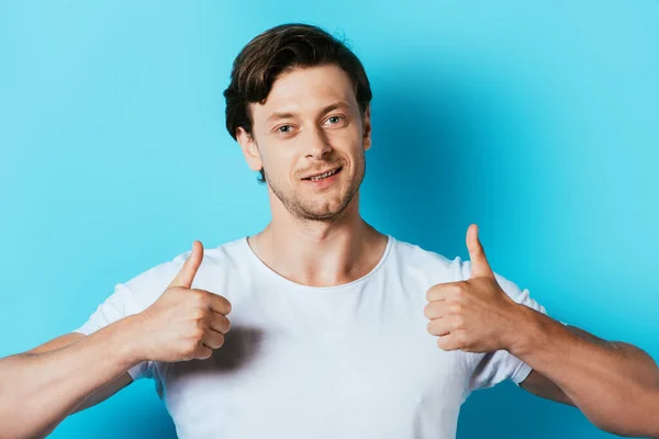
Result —
<path fill-rule="evenodd" d="M 448 260 L 388 236 L 380 262 L 338 286 L 277 274 L 241 238 L 205 249 L 192 288 L 225 296 L 232 328 L 208 360 L 145 361 L 181 439 L 455 438 L 472 390 L 522 382 L 530 368 L 506 351 L 443 351 L 423 314 L 434 284 L 469 279 Z M 118 284 L 77 331 L 91 334 L 155 302 L 190 251 Z M 495 274 L 517 303 L 545 308 Z"/>

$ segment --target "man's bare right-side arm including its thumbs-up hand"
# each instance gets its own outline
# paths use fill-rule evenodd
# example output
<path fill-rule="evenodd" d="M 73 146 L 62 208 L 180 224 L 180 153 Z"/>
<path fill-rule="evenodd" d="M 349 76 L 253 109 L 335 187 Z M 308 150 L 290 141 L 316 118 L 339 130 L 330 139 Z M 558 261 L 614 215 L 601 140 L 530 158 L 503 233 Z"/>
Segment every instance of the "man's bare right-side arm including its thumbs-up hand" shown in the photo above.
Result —
<path fill-rule="evenodd" d="M 467 230 L 467 248 L 469 279 L 426 291 L 427 329 L 440 349 L 504 349 L 536 371 L 523 384 L 530 392 L 576 405 L 603 430 L 659 438 L 659 369 L 650 356 L 515 302 L 499 284 L 476 225 Z"/>

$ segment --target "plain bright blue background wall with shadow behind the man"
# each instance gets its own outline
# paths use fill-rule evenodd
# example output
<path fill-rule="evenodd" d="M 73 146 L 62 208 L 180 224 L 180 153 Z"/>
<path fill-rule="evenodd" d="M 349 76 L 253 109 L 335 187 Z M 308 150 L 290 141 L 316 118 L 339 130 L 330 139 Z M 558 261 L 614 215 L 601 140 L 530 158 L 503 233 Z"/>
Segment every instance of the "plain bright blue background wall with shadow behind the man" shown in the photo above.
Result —
<path fill-rule="evenodd" d="M 369 74 L 368 222 L 450 258 L 476 222 L 555 318 L 659 359 L 656 0 L 2 2 L 0 357 L 193 239 L 267 224 L 222 91 L 243 45 L 292 21 L 345 35 Z M 175 430 L 142 380 L 52 437 Z M 458 437 L 611 435 L 509 382 L 472 394 Z"/>

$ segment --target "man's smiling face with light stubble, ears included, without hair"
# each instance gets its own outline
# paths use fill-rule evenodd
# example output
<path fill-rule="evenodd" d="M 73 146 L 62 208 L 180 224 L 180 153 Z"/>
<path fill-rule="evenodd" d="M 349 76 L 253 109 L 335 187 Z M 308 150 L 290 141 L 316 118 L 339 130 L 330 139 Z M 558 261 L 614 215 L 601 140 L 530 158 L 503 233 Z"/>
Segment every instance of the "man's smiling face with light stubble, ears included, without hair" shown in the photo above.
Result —
<path fill-rule="evenodd" d="M 253 137 L 239 128 L 238 140 L 277 199 L 305 219 L 339 214 L 359 190 L 370 147 L 369 112 L 361 116 L 346 72 L 335 65 L 288 71 L 250 110 Z"/>

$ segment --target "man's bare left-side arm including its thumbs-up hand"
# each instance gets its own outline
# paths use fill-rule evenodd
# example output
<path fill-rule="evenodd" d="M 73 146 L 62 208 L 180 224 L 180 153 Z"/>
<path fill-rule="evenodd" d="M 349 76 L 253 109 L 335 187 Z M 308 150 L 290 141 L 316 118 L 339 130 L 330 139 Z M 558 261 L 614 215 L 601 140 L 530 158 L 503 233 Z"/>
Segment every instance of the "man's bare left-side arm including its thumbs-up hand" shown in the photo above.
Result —
<path fill-rule="evenodd" d="M 0 439 L 48 435 L 68 415 L 130 384 L 126 372 L 141 361 L 210 358 L 231 327 L 231 303 L 191 289 L 202 259 L 196 241 L 169 288 L 138 314 L 89 336 L 68 334 L 0 359 Z"/>

